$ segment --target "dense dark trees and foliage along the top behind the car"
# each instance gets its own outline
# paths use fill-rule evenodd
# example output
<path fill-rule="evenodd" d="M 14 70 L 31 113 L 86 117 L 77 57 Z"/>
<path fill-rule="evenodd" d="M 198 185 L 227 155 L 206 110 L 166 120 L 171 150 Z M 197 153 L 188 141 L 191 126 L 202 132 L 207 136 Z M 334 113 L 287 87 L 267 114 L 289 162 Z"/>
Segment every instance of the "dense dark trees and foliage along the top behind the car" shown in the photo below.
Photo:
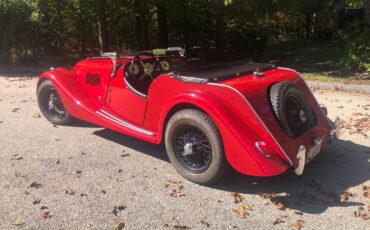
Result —
<path fill-rule="evenodd" d="M 342 0 L 0 0 L 0 65 L 73 62 L 103 51 L 169 46 L 181 46 L 207 60 L 258 58 L 269 43 L 344 39 L 346 66 L 370 68 L 366 67 L 370 52 L 364 53 L 369 51 L 368 25 L 355 16 L 338 26 L 338 12 L 345 4 Z"/>

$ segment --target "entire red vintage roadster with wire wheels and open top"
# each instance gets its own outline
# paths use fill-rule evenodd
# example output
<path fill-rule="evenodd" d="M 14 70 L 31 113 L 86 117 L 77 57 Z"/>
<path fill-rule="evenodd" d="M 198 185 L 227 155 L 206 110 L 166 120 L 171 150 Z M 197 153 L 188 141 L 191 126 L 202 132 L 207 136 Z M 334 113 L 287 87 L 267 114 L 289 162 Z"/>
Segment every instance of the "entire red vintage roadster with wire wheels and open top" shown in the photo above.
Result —
<path fill-rule="evenodd" d="M 230 166 L 300 175 L 339 132 L 339 119 L 328 119 L 297 72 L 250 61 L 190 66 L 176 48 L 51 69 L 39 78 L 37 101 L 56 125 L 78 118 L 163 141 L 175 169 L 199 184 Z"/>

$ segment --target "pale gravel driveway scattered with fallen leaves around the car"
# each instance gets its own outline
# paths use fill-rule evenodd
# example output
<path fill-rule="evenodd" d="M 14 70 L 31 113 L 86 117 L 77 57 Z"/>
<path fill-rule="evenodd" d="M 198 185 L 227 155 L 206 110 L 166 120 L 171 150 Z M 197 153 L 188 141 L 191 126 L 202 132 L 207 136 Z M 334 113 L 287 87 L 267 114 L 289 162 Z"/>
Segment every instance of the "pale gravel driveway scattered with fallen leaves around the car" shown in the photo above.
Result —
<path fill-rule="evenodd" d="M 370 95 L 315 91 L 345 129 L 303 176 L 231 171 L 205 187 L 163 146 L 51 125 L 35 88 L 0 77 L 0 229 L 370 229 Z"/>

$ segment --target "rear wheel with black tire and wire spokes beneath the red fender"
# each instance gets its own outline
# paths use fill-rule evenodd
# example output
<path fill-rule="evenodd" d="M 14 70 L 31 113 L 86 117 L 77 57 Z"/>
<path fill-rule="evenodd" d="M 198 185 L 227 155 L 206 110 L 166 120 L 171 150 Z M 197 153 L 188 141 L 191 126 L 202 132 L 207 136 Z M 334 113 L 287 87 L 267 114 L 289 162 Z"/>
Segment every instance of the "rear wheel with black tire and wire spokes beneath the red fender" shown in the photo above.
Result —
<path fill-rule="evenodd" d="M 215 182 L 230 167 L 216 125 L 199 110 L 184 109 L 175 113 L 167 123 L 165 144 L 173 167 L 184 178 L 197 184 Z M 191 145 L 191 153 L 184 156 L 186 145 Z"/>

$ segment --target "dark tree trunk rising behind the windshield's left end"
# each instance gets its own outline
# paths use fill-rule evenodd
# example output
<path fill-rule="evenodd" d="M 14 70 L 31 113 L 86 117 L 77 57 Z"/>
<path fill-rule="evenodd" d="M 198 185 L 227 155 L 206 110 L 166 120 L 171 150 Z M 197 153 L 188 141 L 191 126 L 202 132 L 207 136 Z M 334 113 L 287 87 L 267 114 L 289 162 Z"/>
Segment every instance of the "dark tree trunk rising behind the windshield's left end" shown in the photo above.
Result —
<path fill-rule="evenodd" d="M 107 17 L 105 13 L 106 1 L 98 1 L 98 34 L 100 54 L 109 51 Z"/>

